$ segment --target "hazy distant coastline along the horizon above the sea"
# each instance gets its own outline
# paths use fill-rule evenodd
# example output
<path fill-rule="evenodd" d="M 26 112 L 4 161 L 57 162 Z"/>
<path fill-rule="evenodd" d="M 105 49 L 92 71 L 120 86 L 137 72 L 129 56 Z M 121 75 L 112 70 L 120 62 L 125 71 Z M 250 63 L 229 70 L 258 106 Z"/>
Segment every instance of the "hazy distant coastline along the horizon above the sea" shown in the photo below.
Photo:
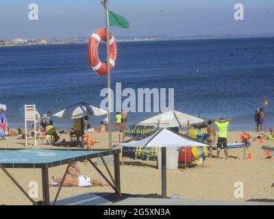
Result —
<path fill-rule="evenodd" d="M 214 34 L 214 35 L 195 35 L 195 36 L 138 36 L 138 37 L 116 37 L 116 42 L 148 42 L 164 40 L 217 40 L 235 38 L 272 38 L 274 34 Z M 8 40 L 0 39 L 0 47 L 51 45 L 51 44 L 84 44 L 88 43 L 87 37 L 75 37 L 65 39 L 24 39 L 14 38 Z"/>

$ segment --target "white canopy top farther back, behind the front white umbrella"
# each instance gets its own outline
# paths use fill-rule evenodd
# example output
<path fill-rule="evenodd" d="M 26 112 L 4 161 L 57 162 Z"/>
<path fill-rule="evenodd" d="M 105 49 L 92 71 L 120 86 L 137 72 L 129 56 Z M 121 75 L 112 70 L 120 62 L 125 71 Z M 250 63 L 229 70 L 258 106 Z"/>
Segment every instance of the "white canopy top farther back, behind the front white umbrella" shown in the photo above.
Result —
<path fill-rule="evenodd" d="M 138 123 L 138 125 L 154 125 L 160 128 L 171 128 L 185 127 L 188 124 L 197 123 L 203 123 L 203 119 L 176 110 L 168 110 L 162 114 L 148 118 L 147 120 Z"/>

